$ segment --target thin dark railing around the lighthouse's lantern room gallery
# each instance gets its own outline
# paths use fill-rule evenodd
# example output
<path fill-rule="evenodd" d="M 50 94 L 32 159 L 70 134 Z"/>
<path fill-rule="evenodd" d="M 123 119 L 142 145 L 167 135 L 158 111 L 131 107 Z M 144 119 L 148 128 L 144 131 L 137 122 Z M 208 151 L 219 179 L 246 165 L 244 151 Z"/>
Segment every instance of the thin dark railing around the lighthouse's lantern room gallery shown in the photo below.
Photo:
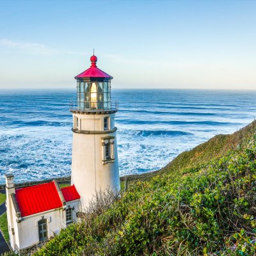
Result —
<path fill-rule="evenodd" d="M 110 102 L 78 102 L 78 104 L 76 100 L 70 100 L 69 110 L 70 111 L 117 111 L 118 100 L 111 100 Z"/>

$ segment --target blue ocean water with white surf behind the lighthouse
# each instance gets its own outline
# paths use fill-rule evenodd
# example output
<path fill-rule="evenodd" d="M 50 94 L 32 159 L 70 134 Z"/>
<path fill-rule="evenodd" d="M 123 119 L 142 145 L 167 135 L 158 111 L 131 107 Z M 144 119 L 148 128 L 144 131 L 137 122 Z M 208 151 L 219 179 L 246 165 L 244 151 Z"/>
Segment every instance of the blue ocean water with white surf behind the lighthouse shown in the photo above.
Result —
<path fill-rule="evenodd" d="M 158 170 L 256 115 L 256 91 L 113 90 L 120 175 Z M 70 175 L 75 90 L 0 91 L 0 183 Z"/>

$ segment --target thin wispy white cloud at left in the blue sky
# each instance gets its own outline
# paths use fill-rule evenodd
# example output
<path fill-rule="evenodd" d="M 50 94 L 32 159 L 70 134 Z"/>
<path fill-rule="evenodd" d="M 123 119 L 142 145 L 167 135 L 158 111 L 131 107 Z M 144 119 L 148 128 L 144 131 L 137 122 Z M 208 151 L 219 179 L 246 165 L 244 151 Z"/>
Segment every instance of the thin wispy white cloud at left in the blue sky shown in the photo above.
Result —
<path fill-rule="evenodd" d="M 58 49 L 47 47 L 43 44 L 37 44 L 34 42 L 17 42 L 6 38 L 0 39 L 0 46 L 29 51 L 33 54 L 81 54 L 81 52 L 60 51 Z"/>

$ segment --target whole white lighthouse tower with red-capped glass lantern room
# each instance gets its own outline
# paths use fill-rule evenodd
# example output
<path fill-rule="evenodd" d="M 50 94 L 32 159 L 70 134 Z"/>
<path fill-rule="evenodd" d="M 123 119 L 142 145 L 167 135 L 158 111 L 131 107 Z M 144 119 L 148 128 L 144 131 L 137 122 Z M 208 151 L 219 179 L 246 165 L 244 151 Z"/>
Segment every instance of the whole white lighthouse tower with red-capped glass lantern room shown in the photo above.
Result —
<path fill-rule="evenodd" d="M 97 57 L 90 68 L 77 75 L 77 104 L 73 114 L 71 184 L 81 196 L 81 211 L 95 191 L 120 190 L 116 145 L 116 102 L 111 102 L 111 79 L 97 68 Z M 115 106 L 113 106 L 115 105 Z"/>

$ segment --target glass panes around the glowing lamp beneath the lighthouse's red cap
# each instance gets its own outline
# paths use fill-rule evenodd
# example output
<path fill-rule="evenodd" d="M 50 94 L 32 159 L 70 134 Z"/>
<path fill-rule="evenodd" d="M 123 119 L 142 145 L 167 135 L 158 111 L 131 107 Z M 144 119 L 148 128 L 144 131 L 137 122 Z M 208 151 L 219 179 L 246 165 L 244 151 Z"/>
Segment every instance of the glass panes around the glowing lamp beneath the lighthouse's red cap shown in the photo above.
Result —
<path fill-rule="evenodd" d="M 110 82 L 77 82 L 77 109 L 110 109 Z"/>

